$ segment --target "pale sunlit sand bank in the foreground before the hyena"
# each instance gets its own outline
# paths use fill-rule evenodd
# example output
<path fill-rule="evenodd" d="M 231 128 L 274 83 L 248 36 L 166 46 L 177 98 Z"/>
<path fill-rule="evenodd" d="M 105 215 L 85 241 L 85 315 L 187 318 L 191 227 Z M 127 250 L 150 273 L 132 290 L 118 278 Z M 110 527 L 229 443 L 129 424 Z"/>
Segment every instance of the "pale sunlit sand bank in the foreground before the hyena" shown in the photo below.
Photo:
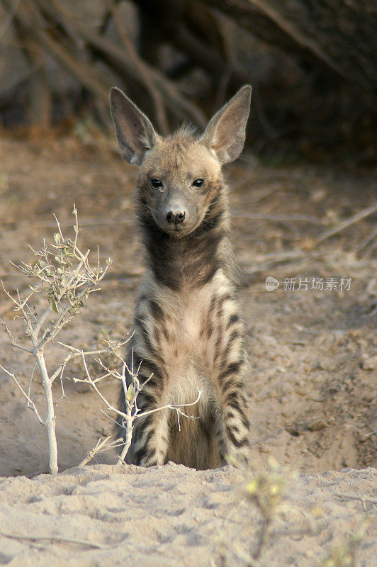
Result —
<path fill-rule="evenodd" d="M 376 565 L 376 477 L 373 468 L 288 476 L 257 564 Z M 231 466 L 195 471 L 169 464 L 1 478 L 0 564 L 244 566 L 261 527 L 244 483 Z M 330 557 L 344 562 L 326 563 Z"/>

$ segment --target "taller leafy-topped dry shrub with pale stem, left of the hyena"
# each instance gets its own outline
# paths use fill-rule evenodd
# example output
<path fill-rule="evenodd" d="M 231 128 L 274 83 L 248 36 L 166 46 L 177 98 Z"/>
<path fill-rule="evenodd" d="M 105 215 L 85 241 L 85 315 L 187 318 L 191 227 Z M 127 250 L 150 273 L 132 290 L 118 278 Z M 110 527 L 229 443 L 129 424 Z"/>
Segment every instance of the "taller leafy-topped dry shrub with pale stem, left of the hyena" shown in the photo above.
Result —
<path fill-rule="evenodd" d="M 49 468 L 52 474 L 56 474 L 58 471 L 55 405 L 52 396 L 52 384 L 56 378 L 60 378 L 62 383 L 65 366 L 72 356 L 69 354 L 55 370 L 50 371 L 47 369 L 45 361 L 45 349 L 52 344 L 62 328 L 75 315 L 79 314 L 81 308 L 86 305 L 89 294 L 99 291 L 99 283 L 106 275 L 108 266 L 111 264 L 111 259 L 108 259 L 106 266 L 102 267 L 99 262 L 98 252 L 96 266 L 93 267 L 89 264 L 90 250 L 86 250 L 85 253 L 81 252 L 77 245 L 79 223 L 76 207 L 74 207 L 72 213 L 74 215 L 73 240 L 63 235 L 60 223 L 55 217 L 57 232 L 54 235 L 54 242 L 47 244 L 44 240 L 43 246 L 39 250 L 31 248 L 35 256 L 35 262 L 13 264 L 26 278 L 33 279 L 33 285 L 28 286 L 29 293 L 26 296 L 21 296 L 21 293 L 16 291 L 16 296 L 13 297 L 9 291 L 6 291 L 3 283 L 4 292 L 14 304 L 13 310 L 16 316 L 23 320 L 23 335 L 15 338 L 4 320 L 1 320 L 1 324 L 9 337 L 12 347 L 26 351 L 35 358 L 35 366 L 38 366 L 43 390 L 45 391 L 45 415 L 42 415 L 42 411 L 38 409 L 30 397 L 34 371 L 30 374 L 28 391 L 25 391 L 13 372 L 5 369 L 3 366 L 1 366 L 1 369 L 13 378 L 13 381 L 27 400 L 27 407 L 35 413 L 40 424 L 47 430 Z M 39 296 L 39 300 L 41 300 L 39 302 L 36 301 L 36 303 L 42 303 L 41 308 L 38 310 L 33 305 L 36 299 L 35 296 Z M 21 344 L 25 338 L 29 346 Z M 63 387 L 62 392 L 64 395 Z"/>

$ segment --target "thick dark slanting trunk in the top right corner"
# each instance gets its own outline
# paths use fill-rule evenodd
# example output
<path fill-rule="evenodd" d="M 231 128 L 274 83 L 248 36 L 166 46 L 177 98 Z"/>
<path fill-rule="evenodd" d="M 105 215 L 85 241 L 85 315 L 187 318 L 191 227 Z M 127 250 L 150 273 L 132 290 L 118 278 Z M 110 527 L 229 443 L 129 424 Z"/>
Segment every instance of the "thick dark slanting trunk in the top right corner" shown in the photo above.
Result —
<path fill-rule="evenodd" d="M 220 9 L 257 38 L 329 70 L 373 94 L 377 62 L 373 55 L 376 13 L 368 0 L 201 0 Z"/>

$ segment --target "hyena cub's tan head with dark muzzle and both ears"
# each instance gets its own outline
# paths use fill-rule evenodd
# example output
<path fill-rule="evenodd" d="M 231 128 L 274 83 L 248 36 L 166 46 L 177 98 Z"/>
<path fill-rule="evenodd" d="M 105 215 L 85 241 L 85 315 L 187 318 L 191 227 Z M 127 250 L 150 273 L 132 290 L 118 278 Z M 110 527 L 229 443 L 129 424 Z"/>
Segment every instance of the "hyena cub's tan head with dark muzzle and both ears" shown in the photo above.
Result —
<path fill-rule="evenodd" d="M 185 237 L 210 222 L 223 191 L 221 167 L 237 159 L 244 146 L 251 93 L 251 86 L 243 86 L 202 135 L 183 127 L 162 137 L 122 91 L 111 89 L 120 155 L 140 167 L 137 197 L 143 215 L 171 237 Z"/>

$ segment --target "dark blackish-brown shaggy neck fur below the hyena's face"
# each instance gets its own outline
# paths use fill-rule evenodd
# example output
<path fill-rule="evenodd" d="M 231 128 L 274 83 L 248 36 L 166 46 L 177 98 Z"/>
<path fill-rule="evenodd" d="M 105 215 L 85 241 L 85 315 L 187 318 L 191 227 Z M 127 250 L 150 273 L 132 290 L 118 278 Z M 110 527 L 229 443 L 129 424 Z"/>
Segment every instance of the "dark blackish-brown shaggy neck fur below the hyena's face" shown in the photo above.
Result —
<path fill-rule="evenodd" d="M 220 248 L 227 237 L 227 200 L 225 188 L 218 189 L 201 225 L 189 235 L 174 238 L 155 223 L 144 203 L 139 203 L 137 218 L 147 252 L 147 264 L 159 283 L 174 291 L 203 286 L 222 266 Z"/>

